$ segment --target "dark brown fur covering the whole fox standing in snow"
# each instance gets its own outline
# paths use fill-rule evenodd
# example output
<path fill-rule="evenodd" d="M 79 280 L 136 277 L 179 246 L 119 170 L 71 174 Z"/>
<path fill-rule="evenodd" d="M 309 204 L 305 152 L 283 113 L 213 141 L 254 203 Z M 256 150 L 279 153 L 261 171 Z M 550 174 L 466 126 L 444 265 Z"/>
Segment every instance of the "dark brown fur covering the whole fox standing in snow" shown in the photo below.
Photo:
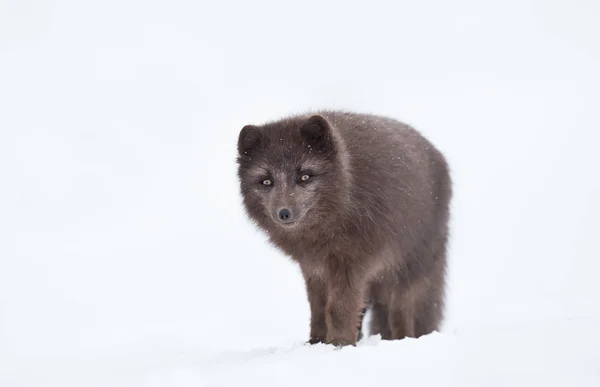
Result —
<path fill-rule="evenodd" d="M 367 308 L 384 339 L 439 328 L 452 188 L 431 143 L 393 119 L 321 111 L 245 126 L 238 153 L 247 214 L 302 270 L 310 343 L 355 344 Z"/>

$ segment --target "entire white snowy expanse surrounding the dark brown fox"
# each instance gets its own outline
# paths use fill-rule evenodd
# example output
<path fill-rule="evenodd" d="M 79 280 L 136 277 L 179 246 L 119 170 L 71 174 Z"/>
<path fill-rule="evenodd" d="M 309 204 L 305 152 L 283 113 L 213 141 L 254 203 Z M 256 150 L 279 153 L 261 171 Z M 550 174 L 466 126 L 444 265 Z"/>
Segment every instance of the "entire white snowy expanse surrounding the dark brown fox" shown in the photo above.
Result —
<path fill-rule="evenodd" d="M 0 386 L 600 384 L 600 5 L 0 2 Z M 455 180 L 447 319 L 305 347 L 241 127 L 389 114 Z"/>

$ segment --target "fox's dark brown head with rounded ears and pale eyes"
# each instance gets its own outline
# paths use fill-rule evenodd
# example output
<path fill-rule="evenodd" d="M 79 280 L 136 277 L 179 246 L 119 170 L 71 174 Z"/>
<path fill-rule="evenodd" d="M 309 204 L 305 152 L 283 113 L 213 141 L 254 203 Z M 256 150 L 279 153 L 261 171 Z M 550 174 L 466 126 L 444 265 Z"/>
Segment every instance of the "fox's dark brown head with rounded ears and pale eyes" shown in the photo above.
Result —
<path fill-rule="evenodd" d="M 248 215 L 265 229 L 290 232 L 336 216 L 347 186 L 341 145 L 321 115 L 244 126 L 237 161 Z"/>

